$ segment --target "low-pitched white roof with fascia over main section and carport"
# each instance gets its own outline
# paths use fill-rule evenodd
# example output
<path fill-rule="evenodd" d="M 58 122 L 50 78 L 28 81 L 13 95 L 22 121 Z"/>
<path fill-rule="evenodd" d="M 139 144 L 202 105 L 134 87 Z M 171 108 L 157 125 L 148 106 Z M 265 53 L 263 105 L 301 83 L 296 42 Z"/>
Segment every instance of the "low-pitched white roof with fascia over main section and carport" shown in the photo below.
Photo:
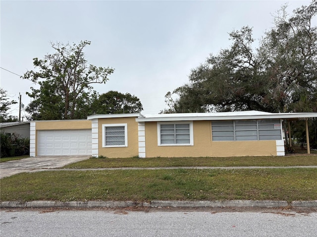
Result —
<path fill-rule="evenodd" d="M 241 120 L 241 119 L 285 119 L 315 118 L 317 113 L 267 113 L 262 111 L 237 111 L 216 113 L 184 113 L 145 115 L 136 118 L 137 122 L 146 121 L 190 121 L 190 120 Z"/>

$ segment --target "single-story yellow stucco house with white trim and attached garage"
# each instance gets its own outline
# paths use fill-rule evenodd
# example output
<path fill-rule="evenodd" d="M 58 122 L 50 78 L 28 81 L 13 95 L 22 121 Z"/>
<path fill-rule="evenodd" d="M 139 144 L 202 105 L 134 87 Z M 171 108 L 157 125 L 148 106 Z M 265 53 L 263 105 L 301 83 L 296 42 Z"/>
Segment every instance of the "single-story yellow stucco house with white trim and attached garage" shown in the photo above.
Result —
<path fill-rule="evenodd" d="M 307 119 L 316 117 L 317 113 L 243 111 L 113 114 L 92 115 L 87 120 L 32 121 L 30 155 L 284 156 L 282 119 L 306 120 L 307 125 Z"/>

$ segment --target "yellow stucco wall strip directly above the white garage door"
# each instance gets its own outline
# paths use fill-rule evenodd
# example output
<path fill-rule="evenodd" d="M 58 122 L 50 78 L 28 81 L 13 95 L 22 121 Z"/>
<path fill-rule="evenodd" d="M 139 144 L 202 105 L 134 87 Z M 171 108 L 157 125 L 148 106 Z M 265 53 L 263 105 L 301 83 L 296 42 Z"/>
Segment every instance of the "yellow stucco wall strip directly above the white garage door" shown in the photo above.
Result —
<path fill-rule="evenodd" d="M 91 129 L 91 120 L 36 121 L 36 130 Z"/>

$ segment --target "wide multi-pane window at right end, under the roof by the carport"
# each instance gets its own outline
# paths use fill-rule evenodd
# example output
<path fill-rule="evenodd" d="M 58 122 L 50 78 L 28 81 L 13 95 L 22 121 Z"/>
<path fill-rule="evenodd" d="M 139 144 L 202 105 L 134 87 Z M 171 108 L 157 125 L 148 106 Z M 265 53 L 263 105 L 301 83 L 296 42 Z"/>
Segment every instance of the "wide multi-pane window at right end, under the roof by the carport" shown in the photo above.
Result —
<path fill-rule="evenodd" d="M 212 121 L 212 141 L 281 140 L 279 119 Z"/>

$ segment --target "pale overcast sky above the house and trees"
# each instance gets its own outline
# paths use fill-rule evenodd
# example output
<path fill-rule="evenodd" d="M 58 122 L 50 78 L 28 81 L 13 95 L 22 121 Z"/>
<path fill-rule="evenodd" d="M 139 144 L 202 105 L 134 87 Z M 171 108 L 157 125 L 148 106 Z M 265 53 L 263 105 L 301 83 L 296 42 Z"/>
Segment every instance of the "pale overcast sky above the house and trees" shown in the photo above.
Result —
<path fill-rule="evenodd" d="M 130 93 L 141 100 L 142 114 L 158 114 L 167 109 L 164 95 L 187 83 L 191 69 L 210 53 L 230 47 L 228 33 L 250 26 L 256 47 L 283 4 L 288 3 L 291 13 L 310 2 L 1 0 L 0 87 L 10 99 L 18 101 L 21 94 L 27 106 L 31 99 L 26 92 L 39 86 L 17 75 L 34 70 L 33 58 L 54 53 L 50 42 L 90 40 L 85 48 L 88 63 L 115 69 L 106 84 L 94 89 L 100 94 Z M 18 112 L 18 104 L 9 111 L 14 116 Z M 22 109 L 21 116 L 26 115 Z"/>

